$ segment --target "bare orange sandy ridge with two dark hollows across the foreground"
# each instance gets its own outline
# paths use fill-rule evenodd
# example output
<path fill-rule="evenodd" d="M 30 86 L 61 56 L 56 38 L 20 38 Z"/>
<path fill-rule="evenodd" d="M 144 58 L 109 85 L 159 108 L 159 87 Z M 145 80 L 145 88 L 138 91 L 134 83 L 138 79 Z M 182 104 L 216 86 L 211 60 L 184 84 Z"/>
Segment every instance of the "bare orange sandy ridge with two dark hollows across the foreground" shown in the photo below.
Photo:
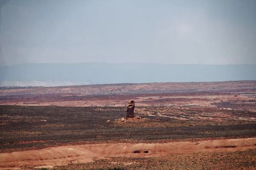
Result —
<path fill-rule="evenodd" d="M 105 159 L 107 157 L 159 157 L 181 153 L 255 150 L 256 138 L 200 142 L 85 144 L 0 153 L 0 169 L 54 167 Z"/>

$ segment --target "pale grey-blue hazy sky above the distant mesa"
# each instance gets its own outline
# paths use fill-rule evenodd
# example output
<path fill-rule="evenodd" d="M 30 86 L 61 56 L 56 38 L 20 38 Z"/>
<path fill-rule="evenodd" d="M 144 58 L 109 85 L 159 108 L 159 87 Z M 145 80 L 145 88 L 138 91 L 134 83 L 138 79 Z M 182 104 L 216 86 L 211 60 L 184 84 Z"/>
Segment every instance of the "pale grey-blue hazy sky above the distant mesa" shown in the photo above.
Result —
<path fill-rule="evenodd" d="M 0 65 L 256 64 L 256 0 L 0 0 Z"/>

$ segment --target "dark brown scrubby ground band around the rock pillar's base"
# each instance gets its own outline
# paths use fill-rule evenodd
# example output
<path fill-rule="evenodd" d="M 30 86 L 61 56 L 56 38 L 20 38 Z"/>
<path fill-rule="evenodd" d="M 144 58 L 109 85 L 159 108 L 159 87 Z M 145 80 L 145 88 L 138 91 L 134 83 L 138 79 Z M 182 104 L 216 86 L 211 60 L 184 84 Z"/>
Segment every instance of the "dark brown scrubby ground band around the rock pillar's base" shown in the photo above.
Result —
<path fill-rule="evenodd" d="M 78 143 L 170 142 L 256 136 L 255 112 L 172 107 L 137 107 L 136 111 L 145 118 L 115 122 L 115 119 L 125 116 L 125 108 L 1 105 L 0 150 L 10 152 Z M 161 117 L 160 112 L 165 114 Z M 221 116 L 214 113 L 221 113 Z M 108 119 L 110 123 L 106 122 Z"/>

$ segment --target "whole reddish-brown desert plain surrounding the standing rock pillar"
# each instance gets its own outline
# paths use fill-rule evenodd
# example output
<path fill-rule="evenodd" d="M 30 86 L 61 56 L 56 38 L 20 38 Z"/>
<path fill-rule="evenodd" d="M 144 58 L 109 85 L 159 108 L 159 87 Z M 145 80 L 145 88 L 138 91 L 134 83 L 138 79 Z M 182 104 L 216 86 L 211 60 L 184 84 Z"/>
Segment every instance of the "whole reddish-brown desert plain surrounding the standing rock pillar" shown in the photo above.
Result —
<path fill-rule="evenodd" d="M 1 87 L 0 169 L 254 170 L 256 81 Z"/>

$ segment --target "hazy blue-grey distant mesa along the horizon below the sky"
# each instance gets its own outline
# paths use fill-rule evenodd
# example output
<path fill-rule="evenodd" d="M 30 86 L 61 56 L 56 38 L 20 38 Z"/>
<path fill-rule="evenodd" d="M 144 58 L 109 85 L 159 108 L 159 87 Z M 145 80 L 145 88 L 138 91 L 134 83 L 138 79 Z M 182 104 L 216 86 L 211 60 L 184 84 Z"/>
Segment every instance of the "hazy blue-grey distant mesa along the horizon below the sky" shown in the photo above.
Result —
<path fill-rule="evenodd" d="M 0 67 L 0 82 L 70 81 L 90 84 L 256 80 L 256 65 L 142 63 L 20 64 Z"/>

